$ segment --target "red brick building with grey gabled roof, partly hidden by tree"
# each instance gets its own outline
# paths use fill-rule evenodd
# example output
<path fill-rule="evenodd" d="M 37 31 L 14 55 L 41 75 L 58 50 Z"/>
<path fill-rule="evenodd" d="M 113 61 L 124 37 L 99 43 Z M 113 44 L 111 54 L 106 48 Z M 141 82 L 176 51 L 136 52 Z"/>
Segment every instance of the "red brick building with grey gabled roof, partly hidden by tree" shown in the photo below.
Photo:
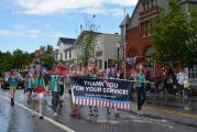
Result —
<path fill-rule="evenodd" d="M 187 11 L 188 8 L 197 6 L 197 0 L 180 0 L 179 3 Z M 161 63 L 151 57 L 154 48 L 151 43 L 150 21 L 157 15 L 158 7 L 168 11 L 168 0 L 139 0 L 132 15 L 127 15 L 120 24 L 122 37 L 124 31 L 127 33 L 127 57 L 143 57 L 153 76 L 160 75 L 162 67 Z"/>

